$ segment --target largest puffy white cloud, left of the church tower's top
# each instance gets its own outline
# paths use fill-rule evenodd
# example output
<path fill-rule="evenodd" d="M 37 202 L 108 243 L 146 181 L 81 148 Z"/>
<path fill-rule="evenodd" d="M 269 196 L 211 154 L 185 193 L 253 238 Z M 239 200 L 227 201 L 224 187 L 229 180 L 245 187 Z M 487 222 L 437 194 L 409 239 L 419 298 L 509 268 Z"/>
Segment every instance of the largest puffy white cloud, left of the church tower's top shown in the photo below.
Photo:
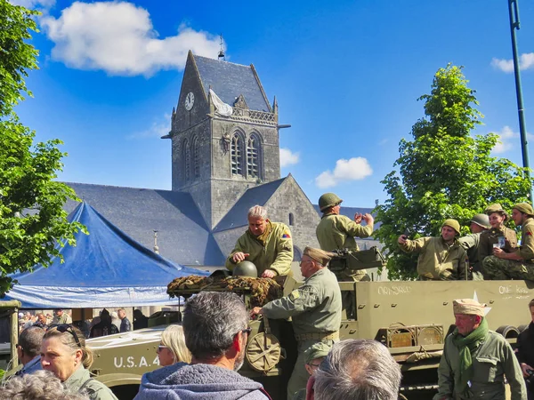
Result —
<path fill-rule="evenodd" d="M 182 69 L 187 52 L 216 57 L 219 38 L 182 25 L 176 36 L 158 38 L 150 14 L 127 2 L 75 2 L 41 25 L 55 46 L 53 60 L 70 68 L 102 69 L 110 75 L 150 76 Z"/>

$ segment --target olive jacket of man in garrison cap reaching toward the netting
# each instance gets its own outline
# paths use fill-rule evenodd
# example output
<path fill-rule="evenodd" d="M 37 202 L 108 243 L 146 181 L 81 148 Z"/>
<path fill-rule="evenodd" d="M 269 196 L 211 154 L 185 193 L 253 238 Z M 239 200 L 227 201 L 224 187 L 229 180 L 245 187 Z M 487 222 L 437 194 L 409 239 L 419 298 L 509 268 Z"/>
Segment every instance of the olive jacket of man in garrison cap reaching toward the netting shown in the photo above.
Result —
<path fill-rule="evenodd" d="M 291 316 L 295 335 L 337 332 L 341 292 L 336 276 L 328 268 L 320 269 L 289 295 L 265 304 L 263 315 L 273 319 Z"/>

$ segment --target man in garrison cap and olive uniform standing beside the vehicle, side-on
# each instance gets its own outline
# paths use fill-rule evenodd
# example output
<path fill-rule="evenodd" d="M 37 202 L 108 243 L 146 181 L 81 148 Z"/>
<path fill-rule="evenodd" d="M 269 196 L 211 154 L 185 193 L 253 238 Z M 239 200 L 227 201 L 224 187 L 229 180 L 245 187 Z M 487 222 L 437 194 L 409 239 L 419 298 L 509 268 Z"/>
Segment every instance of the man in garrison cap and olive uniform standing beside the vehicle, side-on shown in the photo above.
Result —
<path fill-rule="evenodd" d="M 298 356 L 287 383 L 288 399 L 306 387 L 309 377 L 304 366 L 306 350 L 319 342 L 332 346 L 339 340 L 341 292 L 336 276 L 326 268 L 329 260 L 328 252 L 306 247 L 300 263 L 303 285 L 286 297 L 250 311 L 251 317 L 258 314 L 271 319 L 292 317 Z"/>

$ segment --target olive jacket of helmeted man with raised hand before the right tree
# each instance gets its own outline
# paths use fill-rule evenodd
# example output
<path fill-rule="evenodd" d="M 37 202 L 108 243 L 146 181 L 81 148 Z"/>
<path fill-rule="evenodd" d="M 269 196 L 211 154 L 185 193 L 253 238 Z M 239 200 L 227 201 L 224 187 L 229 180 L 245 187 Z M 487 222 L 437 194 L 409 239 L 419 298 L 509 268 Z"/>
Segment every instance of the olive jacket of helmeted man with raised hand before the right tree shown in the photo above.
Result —
<path fill-rule="evenodd" d="M 465 279 L 465 250 L 455 239 L 447 244 L 440 237 L 419 237 L 399 244 L 404 252 L 418 252 L 417 274 L 421 279 Z"/>

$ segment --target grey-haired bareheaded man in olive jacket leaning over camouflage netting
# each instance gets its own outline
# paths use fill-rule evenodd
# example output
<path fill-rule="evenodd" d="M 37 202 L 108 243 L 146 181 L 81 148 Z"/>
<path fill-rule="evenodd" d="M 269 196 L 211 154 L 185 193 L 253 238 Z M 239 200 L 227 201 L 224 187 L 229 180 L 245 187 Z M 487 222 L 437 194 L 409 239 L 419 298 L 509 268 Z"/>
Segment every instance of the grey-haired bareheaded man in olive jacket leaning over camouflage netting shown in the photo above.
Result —
<path fill-rule="evenodd" d="M 287 275 L 293 261 L 293 241 L 285 224 L 271 222 L 260 205 L 248 210 L 248 229 L 241 235 L 226 260 L 226 268 L 248 260 L 255 264 L 258 276 Z"/>

